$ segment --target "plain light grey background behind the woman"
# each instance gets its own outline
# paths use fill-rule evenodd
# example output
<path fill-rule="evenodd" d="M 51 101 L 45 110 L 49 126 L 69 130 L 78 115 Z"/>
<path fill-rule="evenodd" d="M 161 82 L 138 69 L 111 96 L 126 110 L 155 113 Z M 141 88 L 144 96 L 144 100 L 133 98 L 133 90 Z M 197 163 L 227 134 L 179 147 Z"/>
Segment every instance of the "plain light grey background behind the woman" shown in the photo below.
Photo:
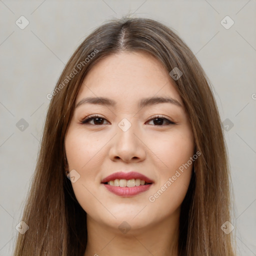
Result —
<path fill-rule="evenodd" d="M 213 84 L 230 159 L 232 232 L 238 255 L 256 255 L 255 0 L 0 0 L 0 256 L 11 255 L 18 233 L 47 93 L 85 36 L 103 21 L 127 13 L 171 27 Z M 24 29 L 15 24 L 21 15 L 29 21 Z M 229 29 L 220 23 L 226 15 L 234 21 Z M 16 125 L 21 118 L 28 123 L 23 131 Z"/>

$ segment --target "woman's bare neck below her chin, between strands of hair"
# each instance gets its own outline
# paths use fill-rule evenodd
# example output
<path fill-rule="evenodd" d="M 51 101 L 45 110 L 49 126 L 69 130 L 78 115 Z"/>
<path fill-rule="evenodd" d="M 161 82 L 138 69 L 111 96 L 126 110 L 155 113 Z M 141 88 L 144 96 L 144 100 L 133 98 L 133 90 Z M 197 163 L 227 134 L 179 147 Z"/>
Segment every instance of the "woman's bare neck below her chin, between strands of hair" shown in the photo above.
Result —
<path fill-rule="evenodd" d="M 177 256 L 179 209 L 170 217 L 143 228 L 122 233 L 87 214 L 87 245 L 84 256 Z M 119 221 L 120 223 L 122 221 Z"/>

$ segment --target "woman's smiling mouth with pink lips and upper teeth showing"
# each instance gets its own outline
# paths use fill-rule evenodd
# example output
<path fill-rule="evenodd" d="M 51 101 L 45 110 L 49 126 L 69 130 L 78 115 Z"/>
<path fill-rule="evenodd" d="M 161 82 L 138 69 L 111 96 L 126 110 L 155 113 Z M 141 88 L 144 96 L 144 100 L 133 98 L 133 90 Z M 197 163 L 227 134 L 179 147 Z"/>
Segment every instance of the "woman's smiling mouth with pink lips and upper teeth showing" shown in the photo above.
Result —
<path fill-rule="evenodd" d="M 138 172 L 115 172 L 101 181 L 105 188 L 122 197 L 130 197 L 148 190 L 153 180 Z"/>

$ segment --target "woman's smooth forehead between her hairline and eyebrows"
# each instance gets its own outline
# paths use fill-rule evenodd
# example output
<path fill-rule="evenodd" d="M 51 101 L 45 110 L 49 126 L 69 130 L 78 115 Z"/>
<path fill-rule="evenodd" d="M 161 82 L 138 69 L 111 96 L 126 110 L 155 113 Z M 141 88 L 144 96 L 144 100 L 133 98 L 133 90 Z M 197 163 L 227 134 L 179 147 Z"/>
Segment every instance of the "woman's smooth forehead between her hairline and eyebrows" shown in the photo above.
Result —
<path fill-rule="evenodd" d="M 163 64 L 144 52 L 121 52 L 97 62 L 84 78 L 76 104 L 89 96 L 111 98 L 117 104 L 148 96 L 182 102 Z"/>

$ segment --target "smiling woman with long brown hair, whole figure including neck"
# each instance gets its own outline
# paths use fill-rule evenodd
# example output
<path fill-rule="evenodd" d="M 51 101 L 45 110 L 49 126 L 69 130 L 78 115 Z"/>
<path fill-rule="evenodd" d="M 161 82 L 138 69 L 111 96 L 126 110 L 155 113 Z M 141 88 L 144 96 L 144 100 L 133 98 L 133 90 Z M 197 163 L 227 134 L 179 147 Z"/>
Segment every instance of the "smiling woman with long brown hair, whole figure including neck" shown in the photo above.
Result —
<path fill-rule="evenodd" d="M 14 255 L 235 255 L 218 110 L 172 30 L 105 23 L 47 97 Z"/>

